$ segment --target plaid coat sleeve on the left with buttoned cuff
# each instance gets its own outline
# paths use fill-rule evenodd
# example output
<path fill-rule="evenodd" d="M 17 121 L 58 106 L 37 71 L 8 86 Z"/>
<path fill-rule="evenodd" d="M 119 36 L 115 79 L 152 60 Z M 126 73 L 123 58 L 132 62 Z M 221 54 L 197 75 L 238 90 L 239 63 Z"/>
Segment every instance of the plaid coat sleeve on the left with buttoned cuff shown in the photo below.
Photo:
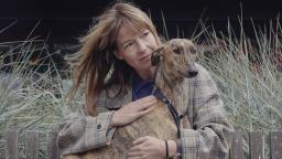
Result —
<path fill-rule="evenodd" d="M 57 137 L 61 155 L 84 152 L 111 142 L 116 128 L 109 128 L 113 112 L 98 107 L 99 113 L 93 117 L 74 113 L 59 125 Z"/>

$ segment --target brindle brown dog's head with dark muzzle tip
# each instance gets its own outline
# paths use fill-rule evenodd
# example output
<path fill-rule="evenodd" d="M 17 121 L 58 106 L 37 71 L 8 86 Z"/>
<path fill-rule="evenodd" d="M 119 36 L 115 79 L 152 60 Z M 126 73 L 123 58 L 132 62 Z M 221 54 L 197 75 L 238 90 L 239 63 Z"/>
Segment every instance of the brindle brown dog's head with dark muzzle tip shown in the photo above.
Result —
<path fill-rule="evenodd" d="M 152 65 L 161 67 L 162 74 L 172 80 L 194 77 L 196 50 L 192 41 L 172 39 L 152 54 Z"/>

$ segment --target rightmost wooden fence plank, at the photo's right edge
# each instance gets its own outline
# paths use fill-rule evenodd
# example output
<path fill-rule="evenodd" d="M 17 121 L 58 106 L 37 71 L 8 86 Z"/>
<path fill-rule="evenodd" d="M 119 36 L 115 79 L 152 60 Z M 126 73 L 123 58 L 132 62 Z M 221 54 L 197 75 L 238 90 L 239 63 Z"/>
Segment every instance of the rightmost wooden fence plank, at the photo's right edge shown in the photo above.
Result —
<path fill-rule="evenodd" d="M 270 132 L 270 158 L 282 158 L 282 131 Z"/>

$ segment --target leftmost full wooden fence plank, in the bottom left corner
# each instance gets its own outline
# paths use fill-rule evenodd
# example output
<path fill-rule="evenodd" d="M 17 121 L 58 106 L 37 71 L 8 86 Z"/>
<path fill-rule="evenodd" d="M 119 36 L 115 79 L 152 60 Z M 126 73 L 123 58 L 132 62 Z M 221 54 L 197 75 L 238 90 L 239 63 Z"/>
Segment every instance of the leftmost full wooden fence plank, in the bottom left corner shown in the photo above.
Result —
<path fill-rule="evenodd" d="M 7 158 L 18 159 L 18 131 L 7 131 Z"/>

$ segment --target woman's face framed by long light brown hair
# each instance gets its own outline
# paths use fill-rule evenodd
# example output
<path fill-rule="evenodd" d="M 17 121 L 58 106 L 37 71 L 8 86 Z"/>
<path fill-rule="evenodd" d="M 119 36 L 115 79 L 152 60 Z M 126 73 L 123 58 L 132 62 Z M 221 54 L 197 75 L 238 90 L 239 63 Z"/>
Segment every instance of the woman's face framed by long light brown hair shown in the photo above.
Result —
<path fill-rule="evenodd" d="M 117 46 L 116 56 L 124 60 L 141 77 L 152 72 L 151 54 L 159 44 L 150 30 L 133 30 L 130 25 L 121 25 Z"/>

